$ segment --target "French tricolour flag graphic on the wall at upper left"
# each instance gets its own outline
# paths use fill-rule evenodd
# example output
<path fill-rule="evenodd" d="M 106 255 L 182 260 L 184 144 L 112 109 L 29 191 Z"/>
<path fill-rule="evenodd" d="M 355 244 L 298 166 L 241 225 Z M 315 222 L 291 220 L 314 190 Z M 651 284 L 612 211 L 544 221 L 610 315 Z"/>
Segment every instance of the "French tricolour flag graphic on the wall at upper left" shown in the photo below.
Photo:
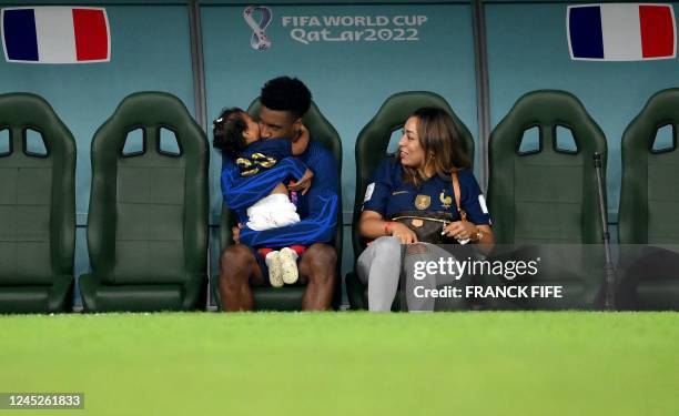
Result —
<path fill-rule="evenodd" d="M 8 62 L 81 63 L 111 59 L 103 8 L 2 9 L 2 47 Z"/>

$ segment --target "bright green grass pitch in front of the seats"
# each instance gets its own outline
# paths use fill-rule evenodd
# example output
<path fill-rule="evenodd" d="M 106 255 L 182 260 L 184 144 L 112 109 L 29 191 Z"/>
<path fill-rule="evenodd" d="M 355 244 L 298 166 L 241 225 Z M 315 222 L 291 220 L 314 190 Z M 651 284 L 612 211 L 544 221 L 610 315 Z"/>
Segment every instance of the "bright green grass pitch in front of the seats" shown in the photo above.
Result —
<path fill-rule="evenodd" d="M 0 415 L 677 415 L 676 313 L 0 316 Z"/>

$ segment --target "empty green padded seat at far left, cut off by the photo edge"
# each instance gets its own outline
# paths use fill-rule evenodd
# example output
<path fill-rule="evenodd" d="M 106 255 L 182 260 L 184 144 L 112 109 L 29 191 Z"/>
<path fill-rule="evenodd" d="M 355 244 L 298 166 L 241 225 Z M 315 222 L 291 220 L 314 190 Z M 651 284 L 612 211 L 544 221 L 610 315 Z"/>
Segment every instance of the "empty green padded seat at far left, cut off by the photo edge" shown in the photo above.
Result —
<path fill-rule="evenodd" d="M 47 153 L 27 143 L 39 132 Z M 75 141 L 42 98 L 0 95 L 0 313 L 70 310 Z M 36 133 L 37 134 L 37 133 Z"/>

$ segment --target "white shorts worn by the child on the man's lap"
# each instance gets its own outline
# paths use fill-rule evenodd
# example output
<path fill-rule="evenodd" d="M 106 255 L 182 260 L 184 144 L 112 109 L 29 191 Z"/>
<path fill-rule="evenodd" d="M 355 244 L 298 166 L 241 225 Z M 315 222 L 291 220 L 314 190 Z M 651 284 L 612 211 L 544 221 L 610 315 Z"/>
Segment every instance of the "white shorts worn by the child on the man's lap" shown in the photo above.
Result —
<path fill-rule="evenodd" d="M 247 209 L 247 227 L 254 231 L 277 229 L 298 222 L 295 204 L 283 193 L 263 197 Z"/>

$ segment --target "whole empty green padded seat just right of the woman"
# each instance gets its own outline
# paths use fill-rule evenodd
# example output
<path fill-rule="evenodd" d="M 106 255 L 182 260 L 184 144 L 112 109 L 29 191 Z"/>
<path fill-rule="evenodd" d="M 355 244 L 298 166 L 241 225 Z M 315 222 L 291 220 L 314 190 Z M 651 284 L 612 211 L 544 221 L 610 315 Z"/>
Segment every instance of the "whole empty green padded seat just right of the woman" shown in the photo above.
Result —
<path fill-rule="evenodd" d="M 534 128 L 539 140 L 527 149 L 525 132 Z M 529 92 L 497 124 L 488 144 L 488 206 L 496 250 L 503 253 L 496 258 L 539 257 L 540 263 L 535 276 L 511 282 L 485 276 L 486 284 L 560 285 L 564 293 L 561 298 L 487 300 L 490 307 L 598 306 L 606 262 L 595 152 L 601 154 L 606 183 L 606 138 L 580 101 L 565 91 Z"/>

